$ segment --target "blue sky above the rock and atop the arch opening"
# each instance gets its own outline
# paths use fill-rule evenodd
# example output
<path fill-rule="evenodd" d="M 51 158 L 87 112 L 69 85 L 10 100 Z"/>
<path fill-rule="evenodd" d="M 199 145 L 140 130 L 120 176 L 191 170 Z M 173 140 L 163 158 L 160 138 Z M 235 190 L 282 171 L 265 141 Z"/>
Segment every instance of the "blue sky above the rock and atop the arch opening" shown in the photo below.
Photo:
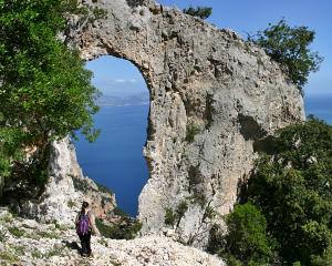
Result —
<path fill-rule="evenodd" d="M 189 6 L 212 8 L 207 19 L 218 28 L 228 28 L 246 37 L 255 34 L 269 23 L 284 18 L 288 23 L 307 25 L 315 31 L 312 51 L 324 58 L 318 72 L 310 74 L 304 88 L 305 95 L 332 94 L 332 1 L 331 0 L 157 0 L 164 6 L 178 9 Z M 131 62 L 103 57 L 87 63 L 94 72 L 93 83 L 104 94 L 125 96 L 146 91 L 143 76 Z"/>

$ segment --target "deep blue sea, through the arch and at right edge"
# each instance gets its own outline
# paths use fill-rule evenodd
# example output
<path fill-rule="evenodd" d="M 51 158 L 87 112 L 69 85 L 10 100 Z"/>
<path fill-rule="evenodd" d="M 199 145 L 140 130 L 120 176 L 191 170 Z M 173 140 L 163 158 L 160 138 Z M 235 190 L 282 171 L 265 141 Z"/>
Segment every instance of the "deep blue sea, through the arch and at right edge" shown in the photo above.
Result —
<path fill-rule="evenodd" d="M 305 113 L 332 124 L 332 94 L 304 98 Z M 101 135 L 94 143 L 75 141 L 83 173 L 115 193 L 120 208 L 137 215 L 138 195 L 148 180 L 143 157 L 148 104 L 102 106 L 95 115 Z"/>

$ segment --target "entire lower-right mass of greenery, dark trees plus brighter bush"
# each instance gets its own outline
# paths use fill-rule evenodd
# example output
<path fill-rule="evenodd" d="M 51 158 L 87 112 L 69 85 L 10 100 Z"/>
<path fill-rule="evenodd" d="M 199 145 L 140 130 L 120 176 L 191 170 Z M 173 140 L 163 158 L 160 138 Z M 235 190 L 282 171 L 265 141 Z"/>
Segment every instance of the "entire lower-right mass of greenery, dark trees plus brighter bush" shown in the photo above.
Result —
<path fill-rule="evenodd" d="M 226 218 L 228 234 L 211 231 L 210 250 L 230 265 L 330 265 L 332 126 L 309 117 L 280 130 L 271 145 Z"/>

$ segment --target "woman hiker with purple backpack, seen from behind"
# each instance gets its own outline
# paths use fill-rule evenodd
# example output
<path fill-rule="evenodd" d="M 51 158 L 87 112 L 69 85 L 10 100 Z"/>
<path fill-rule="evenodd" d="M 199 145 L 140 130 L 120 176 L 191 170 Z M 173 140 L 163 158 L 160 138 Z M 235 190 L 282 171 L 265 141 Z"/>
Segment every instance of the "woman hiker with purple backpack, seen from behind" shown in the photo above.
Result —
<path fill-rule="evenodd" d="M 87 202 L 83 202 L 82 209 L 75 218 L 75 226 L 82 246 L 81 255 L 91 257 L 91 233 L 93 232 L 96 235 L 101 235 L 101 233 L 95 226 L 95 218 L 89 208 Z"/>

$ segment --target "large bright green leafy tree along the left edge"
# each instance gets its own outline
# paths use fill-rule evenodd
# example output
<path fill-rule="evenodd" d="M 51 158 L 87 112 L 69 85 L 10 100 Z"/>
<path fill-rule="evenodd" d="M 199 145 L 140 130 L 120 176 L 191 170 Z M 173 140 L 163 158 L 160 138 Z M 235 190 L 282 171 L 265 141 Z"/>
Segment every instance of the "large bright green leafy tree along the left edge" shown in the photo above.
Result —
<path fill-rule="evenodd" d="M 74 0 L 0 0 L 0 176 L 45 165 L 49 143 L 79 129 L 97 135 L 92 73 L 56 38 L 74 11 Z"/>

